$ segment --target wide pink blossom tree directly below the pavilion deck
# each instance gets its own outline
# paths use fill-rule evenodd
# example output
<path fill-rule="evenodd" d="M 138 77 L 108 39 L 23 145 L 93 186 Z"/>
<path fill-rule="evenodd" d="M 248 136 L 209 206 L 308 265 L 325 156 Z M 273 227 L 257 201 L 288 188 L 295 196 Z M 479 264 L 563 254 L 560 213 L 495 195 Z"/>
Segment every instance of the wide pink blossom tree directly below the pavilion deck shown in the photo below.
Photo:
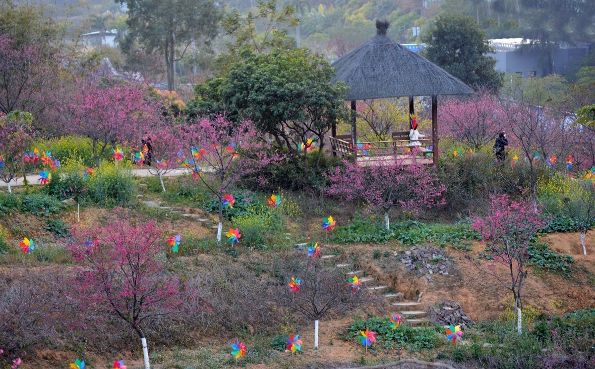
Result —
<path fill-rule="evenodd" d="M 413 163 L 406 164 L 407 159 Z M 396 157 L 393 163 L 371 166 L 343 160 L 343 168 L 335 168 L 327 178 L 329 195 L 367 201 L 383 210 L 386 229 L 390 229 L 389 212 L 393 207 L 418 213 L 445 201 L 442 194 L 446 186 L 433 169 L 411 158 Z"/>

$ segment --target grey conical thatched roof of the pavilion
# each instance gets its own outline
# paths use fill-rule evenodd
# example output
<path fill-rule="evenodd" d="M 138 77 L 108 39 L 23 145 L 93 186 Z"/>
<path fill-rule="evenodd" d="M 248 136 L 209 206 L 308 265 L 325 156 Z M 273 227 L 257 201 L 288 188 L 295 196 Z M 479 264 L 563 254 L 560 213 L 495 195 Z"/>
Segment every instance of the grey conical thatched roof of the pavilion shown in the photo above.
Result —
<path fill-rule="evenodd" d="M 350 87 L 347 100 L 472 93 L 458 78 L 386 37 L 388 23 L 377 21 L 376 27 L 377 36 L 333 63 L 333 82 Z"/>

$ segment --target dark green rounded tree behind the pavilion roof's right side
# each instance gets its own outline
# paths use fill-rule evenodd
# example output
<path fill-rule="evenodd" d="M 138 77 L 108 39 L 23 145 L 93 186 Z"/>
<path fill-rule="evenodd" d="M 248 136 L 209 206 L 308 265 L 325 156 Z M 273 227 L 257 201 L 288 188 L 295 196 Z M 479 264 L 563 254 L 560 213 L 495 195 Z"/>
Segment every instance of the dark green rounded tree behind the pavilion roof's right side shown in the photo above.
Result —
<path fill-rule="evenodd" d="M 466 84 L 491 91 L 502 87 L 504 74 L 494 69 L 496 58 L 487 55 L 494 49 L 474 18 L 441 14 L 421 40 L 426 44 L 423 55 L 428 60 Z"/>

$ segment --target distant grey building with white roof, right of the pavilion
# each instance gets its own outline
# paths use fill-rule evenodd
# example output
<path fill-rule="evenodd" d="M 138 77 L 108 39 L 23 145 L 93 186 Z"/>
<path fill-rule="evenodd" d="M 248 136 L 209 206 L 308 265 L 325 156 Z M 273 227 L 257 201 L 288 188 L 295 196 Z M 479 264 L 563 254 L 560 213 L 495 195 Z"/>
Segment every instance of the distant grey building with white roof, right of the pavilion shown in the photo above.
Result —
<path fill-rule="evenodd" d="M 522 74 L 523 77 L 543 77 L 547 71 L 543 63 L 539 63 L 541 52 L 537 46 L 530 45 L 527 39 L 493 39 L 491 46 L 496 53 L 496 69 L 509 74 Z M 566 74 L 568 68 L 577 59 L 583 58 L 588 51 L 588 44 L 581 43 L 577 46 L 562 45 L 553 56 L 555 74 Z"/>

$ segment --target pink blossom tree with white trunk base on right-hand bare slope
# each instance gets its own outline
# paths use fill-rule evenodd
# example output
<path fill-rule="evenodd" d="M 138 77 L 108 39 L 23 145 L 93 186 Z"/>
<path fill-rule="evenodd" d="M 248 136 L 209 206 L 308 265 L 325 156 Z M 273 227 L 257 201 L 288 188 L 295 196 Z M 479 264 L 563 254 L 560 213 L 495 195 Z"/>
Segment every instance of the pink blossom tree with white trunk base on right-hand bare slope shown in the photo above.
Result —
<path fill-rule="evenodd" d="M 473 228 L 479 232 L 494 261 L 481 271 L 494 276 L 515 299 L 517 330 L 522 333 L 522 282 L 531 239 L 543 228 L 541 212 L 531 201 L 513 201 L 508 195 L 491 197 L 490 209 L 484 217 L 473 217 Z M 498 267 L 500 266 L 500 267 Z"/>

